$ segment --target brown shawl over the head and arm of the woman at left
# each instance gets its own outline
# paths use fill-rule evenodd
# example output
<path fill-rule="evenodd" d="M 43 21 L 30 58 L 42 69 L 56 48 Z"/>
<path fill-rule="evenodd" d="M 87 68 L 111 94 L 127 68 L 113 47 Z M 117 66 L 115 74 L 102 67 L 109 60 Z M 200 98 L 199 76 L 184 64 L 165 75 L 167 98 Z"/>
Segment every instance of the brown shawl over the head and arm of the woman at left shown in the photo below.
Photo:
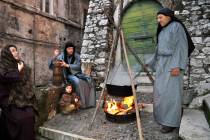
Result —
<path fill-rule="evenodd" d="M 18 69 L 18 61 L 10 52 L 10 47 L 16 48 L 16 46 L 8 45 L 1 51 L 0 73 L 2 75 L 6 74 L 7 72 L 17 71 Z M 20 76 L 21 80 L 19 82 L 10 84 L 11 91 L 8 105 L 15 105 L 20 108 L 32 106 L 35 109 L 36 99 L 34 93 L 32 92 L 31 69 L 27 65 L 24 65 Z"/>

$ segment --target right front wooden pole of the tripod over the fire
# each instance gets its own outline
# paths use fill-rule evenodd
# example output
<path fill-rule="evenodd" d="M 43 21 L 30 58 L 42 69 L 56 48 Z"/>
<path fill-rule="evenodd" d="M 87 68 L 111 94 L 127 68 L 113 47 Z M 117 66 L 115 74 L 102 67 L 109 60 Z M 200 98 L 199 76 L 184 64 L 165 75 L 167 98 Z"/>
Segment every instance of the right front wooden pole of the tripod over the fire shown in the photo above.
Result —
<path fill-rule="evenodd" d="M 134 103 L 135 103 L 135 110 L 136 110 L 136 121 L 137 121 L 137 127 L 138 127 L 138 131 L 139 131 L 139 139 L 144 140 L 142 127 L 141 127 L 141 118 L 140 118 L 140 115 L 139 115 L 138 103 L 137 103 L 137 98 L 136 98 L 137 97 L 136 96 L 136 90 L 135 90 L 134 82 L 133 82 L 133 79 L 132 79 L 132 73 L 131 73 L 131 68 L 130 68 L 130 64 L 129 64 L 129 61 L 128 61 L 127 51 L 126 51 L 126 48 L 125 48 L 125 39 L 124 39 L 122 29 L 120 30 L 120 41 L 121 41 L 121 45 L 123 47 L 123 52 L 124 52 L 125 60 L 126 60 L 127 67 L 128 67 L 128 73 L 129 73 L 130 80 L 131 80 L 131 86 L 132 86 L 132 92 L 133 92 L 133 96 L 134 96 Z"/>

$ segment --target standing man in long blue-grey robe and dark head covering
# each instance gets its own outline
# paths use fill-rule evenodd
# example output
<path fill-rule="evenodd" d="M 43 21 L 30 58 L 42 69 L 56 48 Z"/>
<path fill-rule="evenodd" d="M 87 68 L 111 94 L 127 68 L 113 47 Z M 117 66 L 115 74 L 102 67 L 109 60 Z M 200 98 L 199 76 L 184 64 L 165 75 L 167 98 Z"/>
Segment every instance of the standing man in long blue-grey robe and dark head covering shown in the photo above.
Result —
<path fill-rule="evenodd" d="M 174 11 L 163 8 L 157 13 L 157 47 L 147 63 L 156 71 L 154 84 L 154 118 L 161 132 L 180 126 L 182 116 L 183 73 L 188 62 L 188 45 L 192 40 Z"/>

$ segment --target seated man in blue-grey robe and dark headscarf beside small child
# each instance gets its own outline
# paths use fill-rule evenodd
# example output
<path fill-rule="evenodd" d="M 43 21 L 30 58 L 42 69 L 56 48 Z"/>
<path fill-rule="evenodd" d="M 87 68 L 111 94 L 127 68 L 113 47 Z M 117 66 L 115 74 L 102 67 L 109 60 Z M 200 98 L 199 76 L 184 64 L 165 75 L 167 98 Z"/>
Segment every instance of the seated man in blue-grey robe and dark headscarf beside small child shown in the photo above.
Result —
<path fill-rule="evenodd" d="M 63 53 L 59 54 L 58 50 L 55 50 L 54 58 L 48 63 L 50 69 L 53 69 L 53 61 L 55 59 L 59 60 L 60 66 L 63 67 L 63 75 L 66 82 L 71 82 L 75 87 L 75 92 L 81 99 L 81 107 L 95 106 L 95 85 L 90 77 L 82 73 L 81 59 L 79 54 L 75 52 L 75 46 L 67 42 Z"/>

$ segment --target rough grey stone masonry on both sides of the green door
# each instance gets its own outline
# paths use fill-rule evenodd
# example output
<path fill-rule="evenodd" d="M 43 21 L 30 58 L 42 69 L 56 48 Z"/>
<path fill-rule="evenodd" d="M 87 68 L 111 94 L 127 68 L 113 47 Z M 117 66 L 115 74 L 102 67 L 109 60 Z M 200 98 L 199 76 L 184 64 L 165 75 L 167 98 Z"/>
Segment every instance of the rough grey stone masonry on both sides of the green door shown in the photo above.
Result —
<path fill-rule="evenodd" d="M 124 0 L 124 11 L 136 2 L 143 0 Z M 197 87 L 200 82 L 210 82 L 210 0 L 150 0 L 161 7 L 174 9 L 184 22 L 195 43 L 191 56 L 190 81 Z M 112 30 L 107 11 L 113 15 L 116 1 L 90 0 L 87 22 L 84 31 L 81 57 L 83 63 L 93 63 L 92 76 L 103 81 L 111 47 Z M 108 10 L 107 10 L 108 9 Z M 149 24 L 149 23 L 148 23 Z"/>

